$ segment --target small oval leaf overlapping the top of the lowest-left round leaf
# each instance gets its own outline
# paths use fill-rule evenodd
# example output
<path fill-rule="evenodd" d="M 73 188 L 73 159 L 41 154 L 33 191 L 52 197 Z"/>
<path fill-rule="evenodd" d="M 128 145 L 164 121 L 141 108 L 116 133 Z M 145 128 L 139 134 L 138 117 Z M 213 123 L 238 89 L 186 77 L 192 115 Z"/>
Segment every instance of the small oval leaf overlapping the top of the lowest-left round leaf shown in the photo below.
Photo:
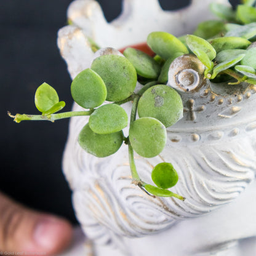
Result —
<path fill-rule="evenodd" d="M 100 106 L 90 115 L 89 126 L 96 134 L 111 134 L 124 129 L 128 124 L 126 111 L 119 105 Z"/>

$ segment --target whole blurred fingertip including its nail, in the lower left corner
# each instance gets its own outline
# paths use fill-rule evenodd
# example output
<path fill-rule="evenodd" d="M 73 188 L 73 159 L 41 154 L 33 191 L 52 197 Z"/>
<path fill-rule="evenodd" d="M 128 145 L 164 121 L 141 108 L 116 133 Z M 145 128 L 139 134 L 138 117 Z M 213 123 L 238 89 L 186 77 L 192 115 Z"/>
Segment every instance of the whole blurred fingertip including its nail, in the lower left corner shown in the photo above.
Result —
<path fill-rule="evenodd" d="M 70 245 L 71 235 L 66 220 L 27 209 L 0 193 L 0 255 L 56 255 Z"/>

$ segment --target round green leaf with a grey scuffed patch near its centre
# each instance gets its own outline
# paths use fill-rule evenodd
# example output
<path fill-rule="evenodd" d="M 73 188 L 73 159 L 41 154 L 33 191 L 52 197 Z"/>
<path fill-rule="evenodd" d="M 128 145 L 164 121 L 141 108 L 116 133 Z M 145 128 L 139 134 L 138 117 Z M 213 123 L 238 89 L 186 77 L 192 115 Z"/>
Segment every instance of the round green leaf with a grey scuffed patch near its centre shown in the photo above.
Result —
<path fill-rule="evenodd" d="M 182 98 L 172 87 L 152 86 L 138 101 L 138 116 L 156 118 L 164 126 L 172 126 L 183 117 Z"/>

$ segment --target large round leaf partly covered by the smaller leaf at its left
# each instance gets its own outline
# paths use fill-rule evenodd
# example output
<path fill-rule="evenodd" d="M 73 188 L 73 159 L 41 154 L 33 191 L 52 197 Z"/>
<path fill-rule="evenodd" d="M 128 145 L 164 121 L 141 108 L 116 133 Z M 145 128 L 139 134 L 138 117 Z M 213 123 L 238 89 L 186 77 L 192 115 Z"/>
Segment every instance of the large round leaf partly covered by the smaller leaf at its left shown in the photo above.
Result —
<path fill-rule="evenodd" d="M 91 68 L 106 84 L 106 100 L 110 102 L 124 100 L 134 92 L 137 73 L 127 58 L 119 55 L 103 55 L 92 62 Z"/>

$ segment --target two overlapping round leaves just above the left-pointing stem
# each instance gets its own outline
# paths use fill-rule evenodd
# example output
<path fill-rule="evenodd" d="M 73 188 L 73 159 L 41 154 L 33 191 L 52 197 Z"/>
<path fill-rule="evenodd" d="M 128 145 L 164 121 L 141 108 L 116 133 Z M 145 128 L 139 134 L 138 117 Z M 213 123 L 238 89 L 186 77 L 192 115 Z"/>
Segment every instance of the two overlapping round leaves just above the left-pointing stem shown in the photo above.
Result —
<path fill-rule="evenodd" d="M 105 100 L 124 100 L 134 92 L 136 84 L 137 73 L 127 58 L 103 55 L 74 78 L 71 94 L 83 108 L 95 108 Z"/>

